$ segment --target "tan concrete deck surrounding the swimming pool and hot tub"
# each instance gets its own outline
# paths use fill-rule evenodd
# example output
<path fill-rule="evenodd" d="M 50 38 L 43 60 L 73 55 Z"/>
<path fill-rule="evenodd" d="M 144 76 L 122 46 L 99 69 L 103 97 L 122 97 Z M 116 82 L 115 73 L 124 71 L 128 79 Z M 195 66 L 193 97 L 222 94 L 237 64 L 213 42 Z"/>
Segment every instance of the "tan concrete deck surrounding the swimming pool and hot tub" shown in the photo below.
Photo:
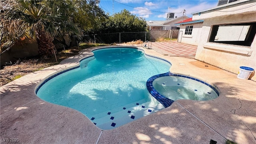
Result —
<path fill-rule="evenodd" d="M 177 100 L 170 107 L 113 130 L 100 130 L 82 113 L 41 100 L 37 84 L 58 70 L 79 63 L 91 55 L 88 48 L 60 64 L 23 76 L 0 88 L 1 143 L 80 144 L 238 144 L 256 143 L 256 82 L 236 78 L 237 74 L 192 58 L 163 55 L 143 49 L 146 54 L 172 63 L 170 71 L 193 76 L 216 85 L 220 96 L 214 100 Z M 206 67 L 205 65 L 208 65 Z M 238 69 L 239 70 L 239 69 Z"/>

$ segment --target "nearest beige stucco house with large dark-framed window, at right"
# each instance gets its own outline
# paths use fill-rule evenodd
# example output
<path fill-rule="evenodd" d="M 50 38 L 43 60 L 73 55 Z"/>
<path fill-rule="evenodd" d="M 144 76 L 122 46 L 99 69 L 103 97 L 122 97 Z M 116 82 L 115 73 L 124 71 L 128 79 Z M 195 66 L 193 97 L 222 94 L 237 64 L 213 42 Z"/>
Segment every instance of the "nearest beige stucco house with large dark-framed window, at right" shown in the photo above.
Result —
<path fill-rule="evenodd" d="M 192 14 L 192 20 L 183 26 L 193 28 L 185 28 L 183 34 L 191 32 L 192 38 L 198 34 L 195 58 L 236 74 L 240 66 L 254 68 L 249 79 L 256 81 L 256 1 L 238 0 Z M 196 21 L 203 23 L 193 23 Z M 197 32 L 196 24 L 201 24 Z"/>

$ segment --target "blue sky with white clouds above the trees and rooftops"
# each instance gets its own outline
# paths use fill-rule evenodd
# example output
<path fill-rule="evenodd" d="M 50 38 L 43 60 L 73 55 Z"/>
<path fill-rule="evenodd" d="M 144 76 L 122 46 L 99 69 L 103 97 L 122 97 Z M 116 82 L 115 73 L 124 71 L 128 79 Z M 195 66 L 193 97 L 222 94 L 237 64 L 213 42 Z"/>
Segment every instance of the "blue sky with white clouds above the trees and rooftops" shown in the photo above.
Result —
<path fill-rule="evenodd" d="M 180 17 L 186 10 L 184 15 L 192 17 L 191 13 L 215 7 L 217 3 L 218 0 L 100 0 L 99 6 L 109 15 L 126 9 L 145 20 L 166 20 L 168 12 Z"/>

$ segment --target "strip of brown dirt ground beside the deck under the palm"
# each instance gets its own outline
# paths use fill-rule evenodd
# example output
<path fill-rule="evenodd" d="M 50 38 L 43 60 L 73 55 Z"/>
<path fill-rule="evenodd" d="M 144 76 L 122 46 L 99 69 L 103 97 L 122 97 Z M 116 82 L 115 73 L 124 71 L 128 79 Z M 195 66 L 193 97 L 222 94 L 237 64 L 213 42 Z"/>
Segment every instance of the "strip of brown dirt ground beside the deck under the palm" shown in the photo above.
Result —
<path fill-rule="evenodd" d="M 66 54 L 65 51 L 59 51 L 56 53 L 58 62 L 56 62 L 55 56 L 48 58 L 46 56 L 36 56 L 19 59 L 12 64 L 2 65 L 0 70 L 0 87 L 31 72 L 58 64 L 65 58 L 77 55 L 78 52 L 79 50 L 76 49 L 66 50 Z"/>

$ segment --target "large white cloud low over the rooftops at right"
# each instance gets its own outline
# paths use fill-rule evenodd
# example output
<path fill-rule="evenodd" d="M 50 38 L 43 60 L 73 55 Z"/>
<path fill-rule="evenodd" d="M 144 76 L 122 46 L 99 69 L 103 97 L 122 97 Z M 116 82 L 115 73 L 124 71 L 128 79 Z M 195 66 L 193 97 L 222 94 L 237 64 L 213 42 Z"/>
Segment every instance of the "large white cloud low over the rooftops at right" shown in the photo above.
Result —
<path fill-rule="evenodd" d="M 174 14 L 174 16 L 182 16 L 183 13 L 182 11 L 183 10 L 186 10 L 186 16 L 188 17 L 192 17 L 192 12 L 198 12 L 200 10 L 206 10 L 208 8 L 212 8 L 214 7 L 213 4 L 209 4 L 207 2 L 202 2 L 200 4 L 197 4 L 197 5 L 192 5 L 192 4 L 187 4 L 187 5 L 182 5 L 182 6 L 178 6 L 178 8 L 172 8 L 170 10 L 170 12 L 175 12 L 176 14 Z M 169 10 L 165 10 L 166 12 L 169 12 Z M 166 18 L 166 14 L 159 14 L 157 17 L 158 18 Z"/>

